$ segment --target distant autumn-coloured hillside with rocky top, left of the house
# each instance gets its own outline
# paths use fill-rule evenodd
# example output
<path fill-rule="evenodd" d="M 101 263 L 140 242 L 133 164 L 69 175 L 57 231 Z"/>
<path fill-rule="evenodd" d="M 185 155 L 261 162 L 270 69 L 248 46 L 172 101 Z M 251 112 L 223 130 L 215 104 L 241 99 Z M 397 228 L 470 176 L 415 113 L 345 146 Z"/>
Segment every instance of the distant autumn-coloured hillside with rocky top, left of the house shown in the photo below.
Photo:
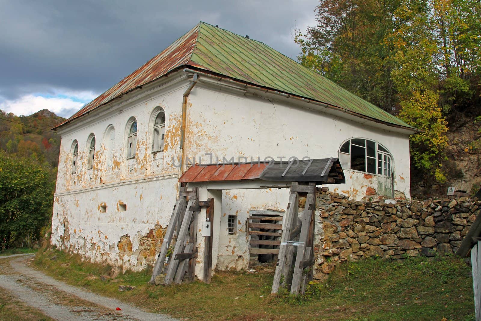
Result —
<path fill-rule="evenodd" d="M 51 128 L 64 119 L 47 109 L 30 116 L 15 116 L 0 110 L 0 150 L 33 157 L 53 170 L 58 166 L 60 136 Z"/>

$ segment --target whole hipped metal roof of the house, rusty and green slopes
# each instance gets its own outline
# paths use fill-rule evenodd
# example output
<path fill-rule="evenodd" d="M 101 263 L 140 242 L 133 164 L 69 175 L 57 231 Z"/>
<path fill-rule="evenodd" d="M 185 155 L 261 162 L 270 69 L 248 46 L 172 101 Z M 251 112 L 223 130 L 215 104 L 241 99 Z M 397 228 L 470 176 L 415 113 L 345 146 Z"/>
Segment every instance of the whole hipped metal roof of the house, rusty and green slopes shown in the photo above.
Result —
<path fill-rule="evenodd" d="M 181 67 L 223 75 L 367 116 L 395 126 L 413 127 L 304 67 L 266 44 L 199 23 L 164 51 L 85 105 L 58 127 L 131 90 Z"/>

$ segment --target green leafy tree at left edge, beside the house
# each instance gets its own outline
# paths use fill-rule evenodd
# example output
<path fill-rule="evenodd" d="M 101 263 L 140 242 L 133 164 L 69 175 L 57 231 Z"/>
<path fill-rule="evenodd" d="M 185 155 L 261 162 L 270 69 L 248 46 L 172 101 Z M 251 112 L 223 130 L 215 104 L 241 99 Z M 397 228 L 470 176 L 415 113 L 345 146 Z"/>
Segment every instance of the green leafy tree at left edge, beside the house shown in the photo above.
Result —
<path fill-rule="evenodd" d="M 54 180 L 27 158 L 0 151 L 0 251 L 35 240 L 51 218 Z"/>

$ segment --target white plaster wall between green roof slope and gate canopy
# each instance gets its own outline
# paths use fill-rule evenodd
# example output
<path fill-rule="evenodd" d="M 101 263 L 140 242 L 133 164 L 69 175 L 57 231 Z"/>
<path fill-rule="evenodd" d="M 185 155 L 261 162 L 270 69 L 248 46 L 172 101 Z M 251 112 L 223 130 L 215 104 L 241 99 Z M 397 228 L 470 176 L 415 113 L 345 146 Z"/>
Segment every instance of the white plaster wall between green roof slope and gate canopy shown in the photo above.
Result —
<path fill-rule="evenodd" d="M 392 154 L 396 196 L 410 198 L 409 137 L 407 134 L 356 123 L 327 113 L 300 108 L 285 101 L 260 98 L 251 93 L 213 90 L 199 84 L 190 93 L 186 130 L 186 155 L 192 159 L 212 153 L 223 157 L 304 156 L 338 157 L 342 143 L 353 137 L 378 141 Z M 346 183 L 334 191 L 357 200 L 368 187 L 377 190 L 375 174 L 346 170 Z M 333 186 L 330 187 L 333 189 Z"/>

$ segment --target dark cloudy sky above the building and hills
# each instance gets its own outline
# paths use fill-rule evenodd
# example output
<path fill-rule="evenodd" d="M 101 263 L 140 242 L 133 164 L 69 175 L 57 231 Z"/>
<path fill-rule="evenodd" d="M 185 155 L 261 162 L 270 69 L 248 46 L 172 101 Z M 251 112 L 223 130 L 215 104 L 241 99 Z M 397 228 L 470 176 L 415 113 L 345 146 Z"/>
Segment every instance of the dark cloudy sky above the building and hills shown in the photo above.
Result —
<path fill-rule="evenodd" d="M 0 109 L 68 117 L 199 21 L 295 59 L 316 0 L 0 0 Z"/>

